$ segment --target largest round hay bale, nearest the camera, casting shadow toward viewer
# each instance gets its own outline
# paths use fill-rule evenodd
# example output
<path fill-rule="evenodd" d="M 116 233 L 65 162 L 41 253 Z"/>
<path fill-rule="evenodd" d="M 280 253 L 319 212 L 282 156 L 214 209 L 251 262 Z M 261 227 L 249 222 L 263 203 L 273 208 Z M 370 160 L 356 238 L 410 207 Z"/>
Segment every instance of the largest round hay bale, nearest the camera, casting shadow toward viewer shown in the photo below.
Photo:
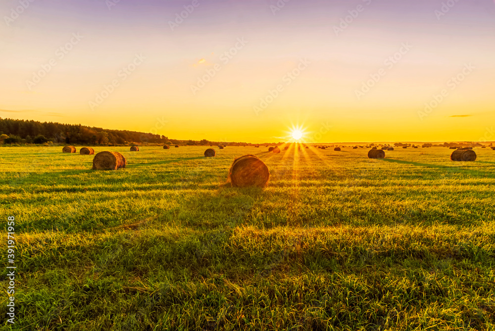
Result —
<path fill-rule="evenodd" d="M 235 187 L 264 187 L 270 179 L 270 171 L 263 161 L 249 154 L 234 160 L 228 178 Z"/>

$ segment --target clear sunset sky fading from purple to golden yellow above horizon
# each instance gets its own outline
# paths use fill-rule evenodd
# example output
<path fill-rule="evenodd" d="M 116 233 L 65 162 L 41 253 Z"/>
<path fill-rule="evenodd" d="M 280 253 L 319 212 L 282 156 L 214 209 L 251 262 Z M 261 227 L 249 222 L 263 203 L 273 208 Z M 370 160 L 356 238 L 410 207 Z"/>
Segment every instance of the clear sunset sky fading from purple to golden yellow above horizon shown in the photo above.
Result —
<path fill-rule="evenodd" d="M 278 142 L 495 140 L 494 0 L 2 0 L 0 117 Z"/>

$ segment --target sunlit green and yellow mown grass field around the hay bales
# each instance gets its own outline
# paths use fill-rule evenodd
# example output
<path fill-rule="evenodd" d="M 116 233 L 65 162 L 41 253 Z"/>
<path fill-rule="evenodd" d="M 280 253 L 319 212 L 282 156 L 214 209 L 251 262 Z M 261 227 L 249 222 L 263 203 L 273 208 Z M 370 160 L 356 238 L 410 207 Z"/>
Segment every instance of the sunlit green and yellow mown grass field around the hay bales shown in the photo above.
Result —
<path fill-rule="evenodd" d="M 495 330 L 495 151 L 205 149 L 0 148 L 2 330 Z M 245 154 L 265 189 L 226 184 Z"/>

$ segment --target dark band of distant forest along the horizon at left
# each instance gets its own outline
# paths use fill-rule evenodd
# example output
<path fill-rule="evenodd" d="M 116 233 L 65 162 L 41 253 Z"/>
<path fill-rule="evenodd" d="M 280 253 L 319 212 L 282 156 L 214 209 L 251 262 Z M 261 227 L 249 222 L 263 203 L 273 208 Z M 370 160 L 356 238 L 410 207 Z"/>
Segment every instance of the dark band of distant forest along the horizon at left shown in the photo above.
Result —
<path fill-rule="evenodd" d="M 177 140 L 159 134 L 110 130 L 81 124 L 38 122 L 0 117 L 0 141 L 4 144 L 71 144 L 71 145 L 131 145 L 131 144 L 172 144 L 209 145 L 220 142 L 208 140 Z M 223 142 L 222 142 L 223 143 Z M 230 145 L 250 145 L 230 143 Z"/>

